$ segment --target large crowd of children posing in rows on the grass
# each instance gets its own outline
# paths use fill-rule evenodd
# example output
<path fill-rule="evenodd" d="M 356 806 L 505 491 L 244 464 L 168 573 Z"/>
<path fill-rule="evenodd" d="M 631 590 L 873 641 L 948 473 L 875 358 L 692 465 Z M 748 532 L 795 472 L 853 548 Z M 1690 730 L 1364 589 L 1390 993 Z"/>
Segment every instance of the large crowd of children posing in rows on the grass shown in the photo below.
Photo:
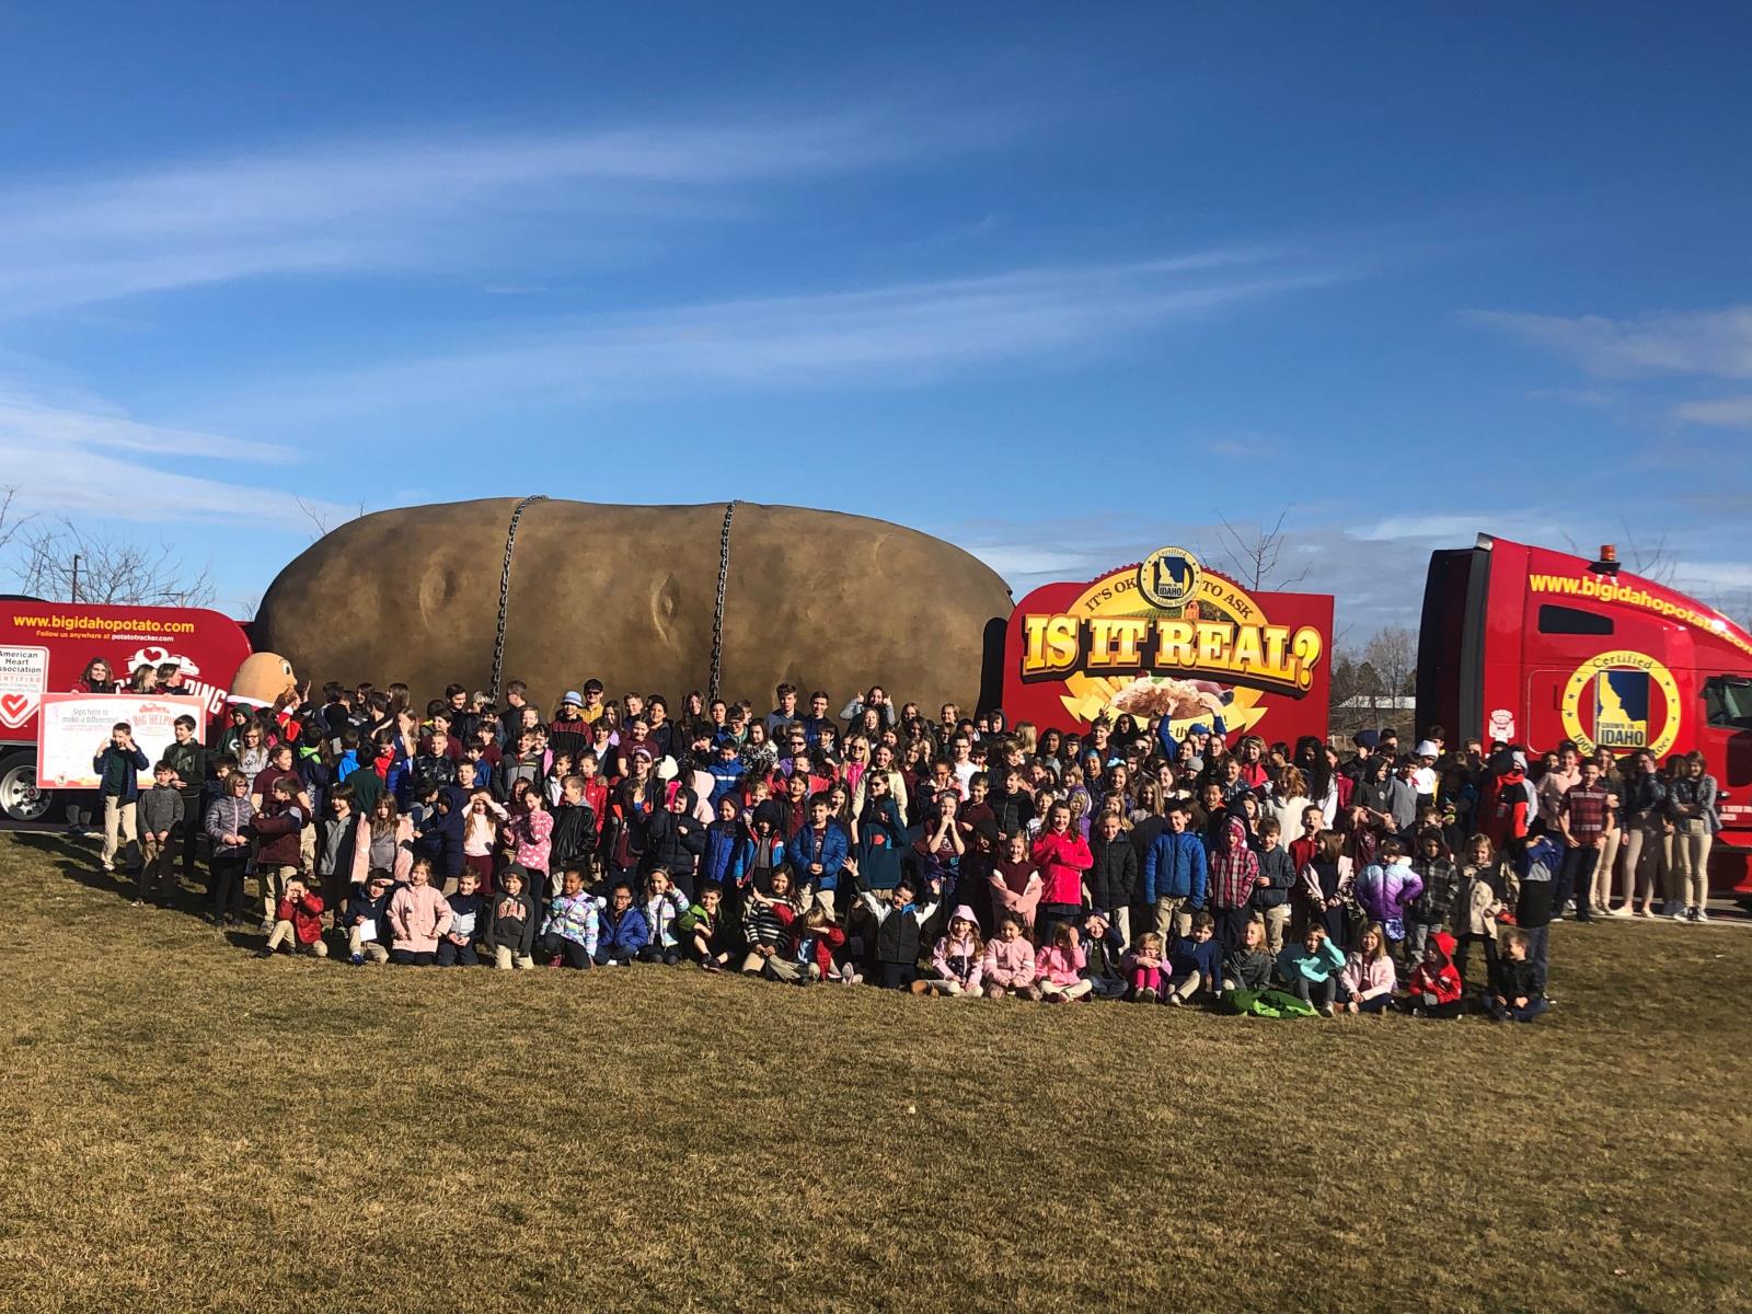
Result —
<path fill-rule="evenodd" d="M 1706 920 L 1715 781 L 1573 745 L 1409 753 L 1391 731 L 1226 743 L 1130 715 L 1084 732 L 1000 711 L 927 718 L 871 689 L 776 706 L 690 694 L 545 715 L 398 685 L 193 720 L 147 767 L 126 725 L 96 753 L 107 869 L 138 839 L 140 902 L 210 851 L 208 913 L 259 953 L 352 964 L 697 964 L 809 986 L 1232 1013 L 1468 1011 L 1529 1021 L 1549 925 Z M 1622 858 L 1624 902 L 1612 908 Z M 1482 953 L 1473 974 L 1470 955 Z"/>

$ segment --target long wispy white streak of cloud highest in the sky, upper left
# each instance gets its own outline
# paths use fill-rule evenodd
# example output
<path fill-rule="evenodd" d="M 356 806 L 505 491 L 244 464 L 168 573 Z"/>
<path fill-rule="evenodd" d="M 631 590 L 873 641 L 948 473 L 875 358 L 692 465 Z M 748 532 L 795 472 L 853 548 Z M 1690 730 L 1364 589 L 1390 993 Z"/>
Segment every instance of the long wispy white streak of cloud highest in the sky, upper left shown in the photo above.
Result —
<path fill-rule="evenodd" d="M 18 184 L 0 191 L 0 312 L 256 275 L 492 265 L 492 247 L 522 249 L 533 231 L 580 258 L 657 217 L 722 219 L 745 205 L 738 184 L 941 158 L 1000 131 L 978 116 L 880 112 L 431 131 Z"/>

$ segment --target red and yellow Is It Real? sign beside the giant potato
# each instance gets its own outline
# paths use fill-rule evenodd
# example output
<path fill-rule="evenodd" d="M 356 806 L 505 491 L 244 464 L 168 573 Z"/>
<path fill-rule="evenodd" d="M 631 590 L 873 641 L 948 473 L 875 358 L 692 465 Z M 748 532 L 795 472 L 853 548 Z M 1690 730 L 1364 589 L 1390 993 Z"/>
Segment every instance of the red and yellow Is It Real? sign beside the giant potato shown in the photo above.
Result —
<path fill-rule="evenodd" d="M 1249 592 L 1184 548 L 1023 597 L 1004 643 L 1011 724 L 1167 717 L 1230 738 L 1326 734 L 1332 596 Z"/>

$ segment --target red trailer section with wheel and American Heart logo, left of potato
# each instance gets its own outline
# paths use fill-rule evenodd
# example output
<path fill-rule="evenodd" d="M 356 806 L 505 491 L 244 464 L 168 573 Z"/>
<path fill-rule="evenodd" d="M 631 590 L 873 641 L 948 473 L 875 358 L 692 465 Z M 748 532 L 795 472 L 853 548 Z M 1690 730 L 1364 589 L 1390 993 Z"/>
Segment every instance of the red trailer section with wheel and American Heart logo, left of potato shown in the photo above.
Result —
<path fill-rule="evenodd" d="M 212 718 L 249 657 L 249 636 L 217 611 L 180 606 L 84 606 L 0 597 L 0 816 L 40 822 L 56 804 L 37 788 L 42 696 L 79 689 L 93 661 L 126 683 L 137 666 L 175 662 L 179 694 Z"/>

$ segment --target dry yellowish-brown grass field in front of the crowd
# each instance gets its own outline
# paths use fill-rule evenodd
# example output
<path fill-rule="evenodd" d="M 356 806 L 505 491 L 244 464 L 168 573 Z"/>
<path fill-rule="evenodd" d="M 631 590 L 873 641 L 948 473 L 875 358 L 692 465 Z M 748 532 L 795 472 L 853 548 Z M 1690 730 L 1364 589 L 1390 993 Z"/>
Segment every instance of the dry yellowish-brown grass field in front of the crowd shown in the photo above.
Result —
<path fill-rule="evenodd" d="M 1745 1310 L 1743 927 L 1531 1027 L 259 962 L 0 837 L 0 1307 Z"/>

